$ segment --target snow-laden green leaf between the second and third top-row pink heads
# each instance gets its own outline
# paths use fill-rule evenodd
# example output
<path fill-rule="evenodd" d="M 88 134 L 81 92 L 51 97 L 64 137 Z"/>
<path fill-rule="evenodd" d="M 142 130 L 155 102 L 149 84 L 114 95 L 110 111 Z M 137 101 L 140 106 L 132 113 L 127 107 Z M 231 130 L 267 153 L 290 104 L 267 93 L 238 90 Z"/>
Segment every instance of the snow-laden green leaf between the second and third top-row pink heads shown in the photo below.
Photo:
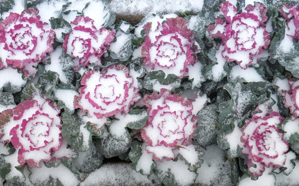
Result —
<path fill-rule="evenodd" d="M 128 22 L 121 21 L 116 25 L 115 41 L 110 43 L 109 51 L 110 57 L 119 61 L 127 61 L 132 55 L 132 41 L 136 39 L 134 34 L 130 31 L 133 26 Z"/>

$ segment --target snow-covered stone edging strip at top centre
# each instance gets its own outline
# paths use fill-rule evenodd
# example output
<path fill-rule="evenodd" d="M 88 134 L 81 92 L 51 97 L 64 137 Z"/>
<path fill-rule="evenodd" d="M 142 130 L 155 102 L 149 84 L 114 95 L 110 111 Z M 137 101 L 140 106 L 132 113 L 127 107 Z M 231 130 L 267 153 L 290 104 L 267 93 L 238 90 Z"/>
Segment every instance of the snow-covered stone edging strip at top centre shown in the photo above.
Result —
<path fill-rule="evenodd" d="M 177 13 L 183 11 L 199 12 L 203 7 L 203 0 L 112 0 L 109 7 L 117 14 L 161 14 L 164 12 Z"/>

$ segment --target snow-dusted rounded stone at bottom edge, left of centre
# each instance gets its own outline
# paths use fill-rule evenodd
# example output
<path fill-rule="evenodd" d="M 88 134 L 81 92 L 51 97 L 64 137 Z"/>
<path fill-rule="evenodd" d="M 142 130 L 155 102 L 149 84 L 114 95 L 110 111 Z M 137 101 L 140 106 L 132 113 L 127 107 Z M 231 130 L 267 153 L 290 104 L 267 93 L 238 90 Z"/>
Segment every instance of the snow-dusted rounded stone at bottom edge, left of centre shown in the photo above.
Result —
<path fill-rule="evenodd" d="M 153 185 L 147 176 L 141 175 L 128 163 L 106 163 L 92 172 L 80 186 Z"/>

